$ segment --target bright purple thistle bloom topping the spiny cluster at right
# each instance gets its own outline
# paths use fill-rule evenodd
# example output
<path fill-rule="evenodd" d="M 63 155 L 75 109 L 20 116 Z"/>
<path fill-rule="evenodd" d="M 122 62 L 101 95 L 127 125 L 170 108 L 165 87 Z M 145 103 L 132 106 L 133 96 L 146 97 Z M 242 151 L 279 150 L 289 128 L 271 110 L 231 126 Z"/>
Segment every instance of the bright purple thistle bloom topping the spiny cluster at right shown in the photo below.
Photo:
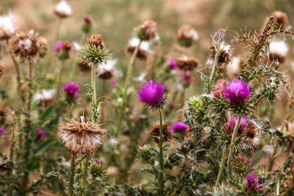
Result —
<path fill-rule="evenodd" d="M 250 95 L 250 85 L 241 79 L 233 79 L 224 91 L 224 97 L 233 104 L 240 104 Z"/>

